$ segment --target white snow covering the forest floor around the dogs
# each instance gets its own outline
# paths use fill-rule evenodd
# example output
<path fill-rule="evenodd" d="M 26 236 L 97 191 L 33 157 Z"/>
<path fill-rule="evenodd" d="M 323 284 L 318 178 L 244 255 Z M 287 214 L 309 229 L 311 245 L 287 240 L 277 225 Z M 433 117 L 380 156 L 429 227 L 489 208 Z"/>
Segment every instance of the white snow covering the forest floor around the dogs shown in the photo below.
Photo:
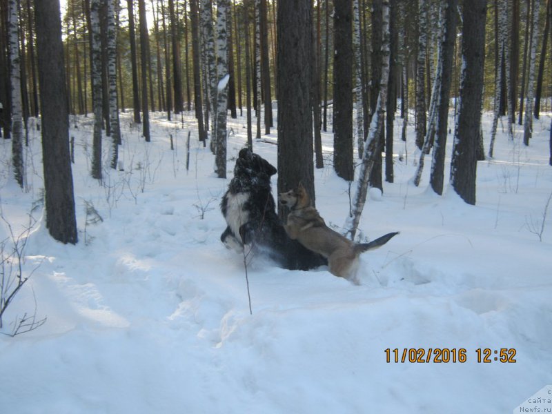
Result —
<path fill-rule="evenodd" d="M 41 208 L 32 211 L 24 270 L 34 273 L 1 332 L 35 306 L 48 319 L 0 335 L 2 413 L 511 413 L 551 384 L 552 211 L 542 242 L 531 231 L 552 190 L 550 114 L 535 120 L 528 148 L 520 127 L 513 143 L 499 128 L 495 157 L 477 169 L 476 206 L 449 186 L 435 195 L 427 168 L 413 186 L 409 128 L 408 164 L 395 157 L 395 184 L 371 192 L 360 224 L 368 239 L 401 233 L 362 255 L 361 285 L 257 257 L 247 269 L 253 315 L 243 256 L 219 240 L 244 119 L 228 119 L 228 179 L 217 179 L 192 114 L 152 114 L 149 144 L 130 116 L 121 114 L 125 170 L 106 167 L 103 185 L 89 173 L 92 119 L 71 121 L 77 246 L 53 241 Z M 485 137 L 491 122 L 486 113 Z M 339 228 L 348 184 L 328 162 L 331 134 L 323 139 L 317 208 Z M 277 146 L 253 146 L 276 165 Z M 26 148 L 27 192 L 13 184 L 10 148 L 0 141 L 0 205 L 19 234 L 41 198 L 39 132 Z M 108 166 L 108 138 L 103 148 Z M 103 221 L 86 224 L 85 201 Z M 0 223 L 0 239 L 7 232 Z M 464 348 L 466 362 L 386 362 L 395 348 L 400 357 L 405 348 Z M 477 348 L 515 349 L 516 362 L 478 363 Z"/>

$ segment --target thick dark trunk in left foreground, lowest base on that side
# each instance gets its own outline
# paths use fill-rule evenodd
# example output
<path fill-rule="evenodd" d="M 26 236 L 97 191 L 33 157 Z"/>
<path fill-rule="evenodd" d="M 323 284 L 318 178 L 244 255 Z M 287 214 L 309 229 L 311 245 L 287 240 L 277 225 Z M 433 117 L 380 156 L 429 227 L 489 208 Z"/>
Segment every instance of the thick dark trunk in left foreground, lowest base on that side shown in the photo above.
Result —
<path fill-rule="evenodd" d="M 77 243 L 69 155 L 69 119 L 63 68 L 59 0 L 34 0 L 42 115 L 46 227 L 61 243 Z"/>

